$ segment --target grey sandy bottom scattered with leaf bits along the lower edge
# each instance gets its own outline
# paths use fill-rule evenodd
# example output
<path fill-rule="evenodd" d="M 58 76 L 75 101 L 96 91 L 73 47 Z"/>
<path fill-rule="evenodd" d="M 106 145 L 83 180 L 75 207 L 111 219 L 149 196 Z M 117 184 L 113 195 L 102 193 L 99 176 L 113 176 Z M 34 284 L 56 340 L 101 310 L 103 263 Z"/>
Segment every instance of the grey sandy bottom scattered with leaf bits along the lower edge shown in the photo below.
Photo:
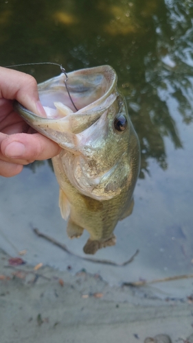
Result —
<path fill-rule="evenodd" d="M 1 343 L 144 342 L 193 333 L 192 299 L 160 300 L 151 288 L 110 287 L 98 274 L 12 266 L 0 250 Z M 143 294 L 143 296 L 142 296 Z"/>

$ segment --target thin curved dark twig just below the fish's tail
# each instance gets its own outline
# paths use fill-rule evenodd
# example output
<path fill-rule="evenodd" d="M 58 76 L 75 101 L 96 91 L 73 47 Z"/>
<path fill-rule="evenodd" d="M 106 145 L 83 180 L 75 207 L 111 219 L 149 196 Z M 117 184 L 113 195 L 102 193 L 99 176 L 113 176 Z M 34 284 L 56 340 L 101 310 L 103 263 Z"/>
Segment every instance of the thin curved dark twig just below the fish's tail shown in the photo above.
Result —
<path fill-rule="evenodd" d="M 33 228 L 33 230 L 34 230 L 34 233 L 36 233 L 36 235 L 38 235 L 38 237 L 43 237 L 43 238 L 47 239 L 47 241 L 51 241 L 53 244 L 55 244 L 55 246 L 58 246 L 59 248 L 65 250 L 65 252 L 67 252 L 68 254 L 76 256 L 79 259 L 83 259 L 84 261 L 88 261 L 88 262 L 114 265 L 115 267 L 124 267 L 124 265 L 131 263 L 133 261 L 133 259 L 135 258 L 135 256 L 137 256 L 137 254 L 139 253 L 139 250 L 137 249 L 135 251 L 135 254 L 132 257 L 130 257 L 130 259 L 128 261 L 125 261 L 124 263 L 116 263 L 116 262 L 104 260 L 104 259 L 90 259 L 89 257 L 82 257 L 80 255 L 74 254 L 73 252 L 71 252 L 71 250 L 69 250 L 67 248 L 67 246 L 65 246 L 65 244 L 62 244 L 59 241 L 56 241 L 56 239 L 49 237 L 49 236 L 45 235 L 44 233 L 41 233 L 38 230 L 38 228 Z"/>

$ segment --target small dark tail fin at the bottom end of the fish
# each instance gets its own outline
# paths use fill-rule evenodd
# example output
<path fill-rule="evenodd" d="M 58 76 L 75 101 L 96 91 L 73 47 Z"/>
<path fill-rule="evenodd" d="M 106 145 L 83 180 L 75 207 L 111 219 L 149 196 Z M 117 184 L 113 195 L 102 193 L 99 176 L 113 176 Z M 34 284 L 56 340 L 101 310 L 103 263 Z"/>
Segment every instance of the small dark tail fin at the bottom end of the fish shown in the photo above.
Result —
<path fill-rule="evenodd" d="M 100 239 L 100 240 L 92 240 L 88 239 L 87 243 L 85 244 L 83 250 L 85 254 L 91 254 L 94 255 L 95 252 L 97 252 L 98 249 L 105 248 L 106 246 L 115 246 L 116 244 L 116 237 L 115 235 L 112 235 L 108 239 Z"/>

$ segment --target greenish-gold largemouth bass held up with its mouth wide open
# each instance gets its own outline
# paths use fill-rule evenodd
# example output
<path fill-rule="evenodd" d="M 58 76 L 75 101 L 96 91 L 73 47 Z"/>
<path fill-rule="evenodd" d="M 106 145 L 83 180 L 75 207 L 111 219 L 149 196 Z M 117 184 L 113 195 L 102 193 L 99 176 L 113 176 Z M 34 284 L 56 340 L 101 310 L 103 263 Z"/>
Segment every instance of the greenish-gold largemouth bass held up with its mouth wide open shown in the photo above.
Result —
<path fill-rule="evenodd" d="M 140 148 L 117 88 L 115 70 L 104 65 L 64 73 L 38 84 L 47 117 L 15 102 L 14 108 L 36 131 L 62 147 L 52 158 L 59 206 L 67 235 L 89 239 L 84 253 L 115 245 L 113 230 L 133 211 Z M 70 94 L 70 96 L 69 96 Z"/>

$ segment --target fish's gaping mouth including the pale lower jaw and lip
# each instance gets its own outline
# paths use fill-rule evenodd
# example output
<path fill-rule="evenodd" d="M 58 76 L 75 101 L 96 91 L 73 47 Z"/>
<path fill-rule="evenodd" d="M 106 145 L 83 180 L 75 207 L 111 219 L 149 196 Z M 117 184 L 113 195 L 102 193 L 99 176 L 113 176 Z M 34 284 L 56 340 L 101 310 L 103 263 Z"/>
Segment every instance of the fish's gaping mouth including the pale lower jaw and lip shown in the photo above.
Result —
<path fill-rule="evenodd" d="M 65 81 L 66 76 L 62 73 L 38 84 L 46 117 L 32 113 L 17 102 L 14 104 L 16 111 L 30 126 L 59 144 L 56 134 L 53 137 L 53 130 L 59 136 L 65 132 L 82 132 L 97 121 L 117 97 L 117 75 L 108 65 L 68 73 L 67 88 Z"/>

